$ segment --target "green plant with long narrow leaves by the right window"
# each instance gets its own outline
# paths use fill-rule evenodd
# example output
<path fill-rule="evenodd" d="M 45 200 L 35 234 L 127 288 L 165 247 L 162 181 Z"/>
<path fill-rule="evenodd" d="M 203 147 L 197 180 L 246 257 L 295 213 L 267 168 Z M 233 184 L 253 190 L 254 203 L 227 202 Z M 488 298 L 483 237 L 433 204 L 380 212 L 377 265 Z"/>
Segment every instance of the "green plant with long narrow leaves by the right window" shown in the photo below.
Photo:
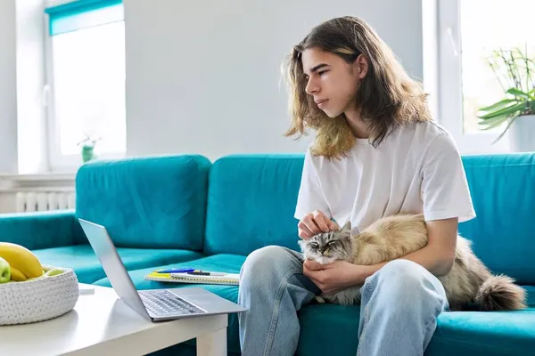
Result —
<path fill-rule="evenodd" d="M 490 130 L 507 122 L 494 141 L 498 142 L 516 118 L 535 114 L 535 61 L 528 57 L 526 46 L 524 52 L 518 48 L 493 51 L 487 62 L 506 98 L 479 109 L 478 124 L 482 130 Z"/>

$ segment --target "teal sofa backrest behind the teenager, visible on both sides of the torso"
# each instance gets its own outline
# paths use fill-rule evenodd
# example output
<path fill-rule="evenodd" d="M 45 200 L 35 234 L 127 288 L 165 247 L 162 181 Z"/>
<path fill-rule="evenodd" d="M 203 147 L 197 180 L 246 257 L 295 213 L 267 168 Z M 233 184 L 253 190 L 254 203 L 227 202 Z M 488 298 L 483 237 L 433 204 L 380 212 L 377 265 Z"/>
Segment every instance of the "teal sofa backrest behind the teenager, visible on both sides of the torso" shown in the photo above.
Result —
<path fill-rule="evenodd" d="M 303 155 L 233 155 L 210 169 L 207 254 L 299 250 L 293 218 Z M 535 154 L 464 156 L 477 217 L 459 224 L 496 273 L 535 284 Z"/>

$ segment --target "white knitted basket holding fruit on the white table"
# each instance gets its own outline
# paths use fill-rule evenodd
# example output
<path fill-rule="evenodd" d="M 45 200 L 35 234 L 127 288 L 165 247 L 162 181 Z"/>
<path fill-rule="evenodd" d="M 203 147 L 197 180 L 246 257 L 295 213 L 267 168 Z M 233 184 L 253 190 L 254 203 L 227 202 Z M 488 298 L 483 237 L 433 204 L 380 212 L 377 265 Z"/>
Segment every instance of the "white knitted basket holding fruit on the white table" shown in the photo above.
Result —
<path fill-rule="evenodd" d="M 49 320 L 70 312 L 78 302 L 78 278 L 70 268 L 43 265 L 62 274 L 0 284 L 0 325 Z"/>

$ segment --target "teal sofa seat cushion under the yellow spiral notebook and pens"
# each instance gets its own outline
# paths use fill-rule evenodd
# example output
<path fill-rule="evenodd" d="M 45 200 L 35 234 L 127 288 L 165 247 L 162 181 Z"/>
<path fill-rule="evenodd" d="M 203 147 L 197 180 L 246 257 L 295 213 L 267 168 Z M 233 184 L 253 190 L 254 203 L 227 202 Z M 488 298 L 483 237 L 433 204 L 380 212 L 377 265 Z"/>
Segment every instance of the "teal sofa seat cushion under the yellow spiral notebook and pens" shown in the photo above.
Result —
<path fill-rule="evenodd" d="M 158 268 L 171 267 L 192 267 L 205 271 L 223 271 L 227 273 L 238 273 L 245 262 L 245 257 L 242 255 L 210 255 L 208 257 L 199 258 L 186 263 L 173 263 Z M 144 276 L 153 271 L 154 268 L 145 268 L 143 270 L 128 271 L 130 278 L 138 290 L 144 289 L 160 289 L 160 288 L 180 288 L 180 287 L 203 287 L 210 292 L 220 295 L 229 301 L 235 302 L 238 300 L 237 286 L 222 286 L 222 285 L 197 285 L 191 283 L 168 283 L 154 280 L 144 280 Z M 95 285 L 111 287 L 109 279 L 97 280 Z M 227 332 L 228 350 L 232 352 L 240 352 L 240 339 L 238 334 L 238 317 L 237 314 L 230 314 L 228 316 L 228 332 Z M 194 340 L 189 344 L 194 344 Z M 178 347 L 180 349 L 180 347 Z M 177 350 L 174 348 L 173 350 Z M 158 354 L 166 354 L 158 353 Z"/>

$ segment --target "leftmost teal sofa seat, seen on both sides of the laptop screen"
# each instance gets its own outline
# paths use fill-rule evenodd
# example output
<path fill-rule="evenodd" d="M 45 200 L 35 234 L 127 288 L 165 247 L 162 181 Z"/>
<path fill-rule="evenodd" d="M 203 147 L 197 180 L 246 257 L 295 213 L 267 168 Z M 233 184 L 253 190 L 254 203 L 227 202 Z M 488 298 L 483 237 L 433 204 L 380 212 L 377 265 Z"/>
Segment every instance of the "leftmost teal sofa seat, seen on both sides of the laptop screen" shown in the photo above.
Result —
<path fill-rule="evenodd" d="M 193 260 L 202 254 L 183 249 L 125 248 L 118 247 L 119 256 L 127 270 L 180 263 Z M 106 276 L 90 245 L 52 247 L 32 251 L 43 264 L 72 268 L 80 283 L 93 283 Z"/>

